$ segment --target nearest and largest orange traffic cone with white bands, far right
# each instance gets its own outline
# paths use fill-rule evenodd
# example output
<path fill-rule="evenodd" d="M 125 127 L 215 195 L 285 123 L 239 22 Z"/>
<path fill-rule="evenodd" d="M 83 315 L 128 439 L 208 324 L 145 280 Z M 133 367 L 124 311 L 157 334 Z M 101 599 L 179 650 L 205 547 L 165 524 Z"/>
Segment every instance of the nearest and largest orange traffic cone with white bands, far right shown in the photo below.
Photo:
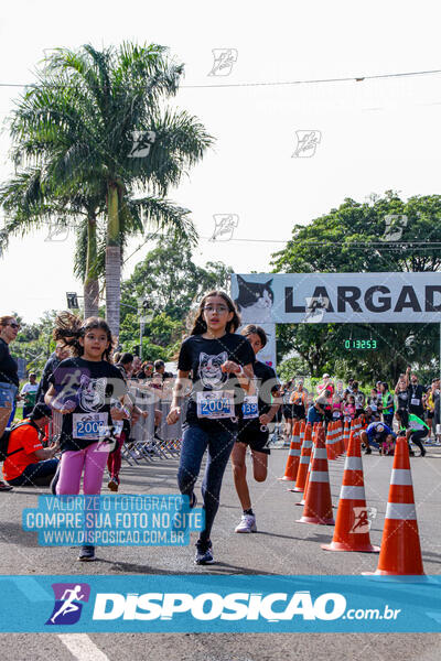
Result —
<path fill-rule="evenodd" d="M 424 574 L 415 510 L 409 447 L 405 436 L 399 436 L 395 446 L 381 550 L 377 571 L 374 574 L 381 576 Z"/>

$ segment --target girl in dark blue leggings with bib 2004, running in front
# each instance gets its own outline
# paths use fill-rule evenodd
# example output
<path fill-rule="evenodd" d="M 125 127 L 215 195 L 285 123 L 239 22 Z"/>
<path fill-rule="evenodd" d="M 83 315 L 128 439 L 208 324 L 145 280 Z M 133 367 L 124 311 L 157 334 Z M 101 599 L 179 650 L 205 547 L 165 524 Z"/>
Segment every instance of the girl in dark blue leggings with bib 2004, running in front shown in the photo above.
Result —
<path fill-rule="evenodd" d="M 236 335 L 240 322 L 230 297 L 224 292 L 206 294 L 200 304 L 190 337 L 181 346 L 178 380 L 166 418 L 174 424 L 181 414 L 180 400 L 191 375 L 191 395 L 184 426 L 178 483 L 181 494 L 195 506 L 202 458 L 208 449 L 202 483 L 205 528 L 196 543 L 196 564 L 213 563 L 209 534 L 219 507 L 222 479 L 237 437 L 237 421 L 244 391 L 252 381 L 254 351 Z"/>

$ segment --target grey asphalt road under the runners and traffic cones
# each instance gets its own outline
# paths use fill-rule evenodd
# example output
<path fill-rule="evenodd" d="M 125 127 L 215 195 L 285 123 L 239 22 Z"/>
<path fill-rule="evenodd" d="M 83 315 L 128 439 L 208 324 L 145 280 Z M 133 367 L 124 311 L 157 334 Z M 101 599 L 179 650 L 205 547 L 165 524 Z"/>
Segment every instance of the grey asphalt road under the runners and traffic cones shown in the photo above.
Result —
<path fill-rule="evenodd" d="M 78 563 L 76 550 L 41 548 L 36 533 L 23 532 L 21 512 L 35 507 L 44 489 L 15 488 L 1 495 L 1 574 L 354 574 L 375 571 L 377 555 L 326 553 L 320 543 L 329 542 L 333 528 L 297 523 L 302 509 L 300 495 L 289 492 L 283 475 L 287 449 L 273 449 L 266 483 L 249 479 L 257 514 L 258 534 L 235 534 L 240 507 L 228 468 L 222 505 L 212 539 L 216 564 L 193 564 L 194 546 L 104 548 L 98 561 Z M 387 503 L 391 457 L 364 457 L 367 505 L 377 510 L 370 540 L 379 544 Z M 330 463 L 331 490 L 336 505 L 343 475 L 343 459 Z M 176 459 L 157 459 L 142 466 L 123 466 L 122 494 L 176 494 Z M 413 488 L 424 571 L 440 573 L 441 537 L 441 449 L 429 448 L 424 458 L 411 459 Z M 104 492 L 107 488 L 104 489 Z M 201 499 L 200 499 L 201 501 Z M 160 581 L 160 579 L 159 579 Z M 438 633 L 3 633 L 2 657 L 14 661 L 266 661 L 314 659 L 342 661 L 434 661 L 440 659 Z"/>

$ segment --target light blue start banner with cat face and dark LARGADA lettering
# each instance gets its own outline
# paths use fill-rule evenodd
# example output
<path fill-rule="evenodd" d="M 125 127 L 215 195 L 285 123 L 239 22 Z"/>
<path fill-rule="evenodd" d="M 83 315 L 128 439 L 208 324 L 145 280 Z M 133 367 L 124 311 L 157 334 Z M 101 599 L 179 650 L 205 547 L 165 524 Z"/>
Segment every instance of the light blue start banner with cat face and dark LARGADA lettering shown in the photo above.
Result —
<path fill-rule="evenodd" d="M 440 323 L 441 272 L 232 273 L 243 324 Z"/>

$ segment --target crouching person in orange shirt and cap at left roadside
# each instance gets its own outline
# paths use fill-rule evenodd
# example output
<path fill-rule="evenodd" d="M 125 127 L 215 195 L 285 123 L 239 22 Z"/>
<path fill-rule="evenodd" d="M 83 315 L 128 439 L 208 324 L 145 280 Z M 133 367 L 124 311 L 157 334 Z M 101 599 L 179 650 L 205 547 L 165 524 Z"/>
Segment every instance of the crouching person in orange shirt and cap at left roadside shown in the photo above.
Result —
<path fill-rule="evenodd" d="M 52 415 L 51 409 L 39 403 L 29 419 L 15 425 L 9 436 L 8 457 L 3 463 L 3 477 L 13 487 L 46 487 L 55 475 L 58 459 L 54 458 L 58 445 L 43 447 L 40 436 Z"/>

